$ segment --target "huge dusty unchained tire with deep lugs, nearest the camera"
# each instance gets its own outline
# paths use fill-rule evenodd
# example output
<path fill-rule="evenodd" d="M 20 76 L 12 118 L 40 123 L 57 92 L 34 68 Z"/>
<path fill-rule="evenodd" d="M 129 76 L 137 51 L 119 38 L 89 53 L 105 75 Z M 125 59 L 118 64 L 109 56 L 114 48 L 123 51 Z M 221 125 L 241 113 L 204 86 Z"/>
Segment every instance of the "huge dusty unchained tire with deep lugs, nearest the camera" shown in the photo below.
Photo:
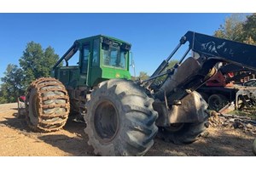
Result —
<path fill-rule="evenodd" d="M 88 144 L 101 156 L 143 156 L 154 144 L 158 127 L 154 99 L 127 80 L 109 80 L 96 88 L 84 120 Z"/>

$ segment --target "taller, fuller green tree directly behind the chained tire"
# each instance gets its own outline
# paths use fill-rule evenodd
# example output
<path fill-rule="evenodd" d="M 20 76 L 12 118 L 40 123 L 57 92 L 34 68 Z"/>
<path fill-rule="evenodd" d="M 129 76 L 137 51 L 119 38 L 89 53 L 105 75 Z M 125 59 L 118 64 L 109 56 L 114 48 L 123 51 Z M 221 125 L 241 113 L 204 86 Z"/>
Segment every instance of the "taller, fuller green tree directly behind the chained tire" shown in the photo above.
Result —
<path fill-rule="evenodd" d="M 28 42 L 23 55 L 20 57 L 20 67 L 26 77 L 23 81 L 25 87 L 39 77 L 49 77 L 51 68 L 55 65 L 59 56 L 54 48 L 45 50 L 39 43 Z"/>

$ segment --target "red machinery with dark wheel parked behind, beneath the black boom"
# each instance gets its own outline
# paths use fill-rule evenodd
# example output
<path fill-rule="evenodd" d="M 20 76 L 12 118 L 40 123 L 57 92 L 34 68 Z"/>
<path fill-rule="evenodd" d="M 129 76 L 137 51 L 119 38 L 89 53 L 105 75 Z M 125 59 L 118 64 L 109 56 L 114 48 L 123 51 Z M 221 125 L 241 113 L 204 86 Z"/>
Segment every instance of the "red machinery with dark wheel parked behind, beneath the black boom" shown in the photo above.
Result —
<path fill-rule="evenodd" d="M 220 63 L 218 72 L 197 91 L 206 99 L 209 109 L 219 111 L 234 102 L 236 109 L 255 105 L 256 88 L 242 84 L 254 78 L 254 71 L 239 65 Z"/>

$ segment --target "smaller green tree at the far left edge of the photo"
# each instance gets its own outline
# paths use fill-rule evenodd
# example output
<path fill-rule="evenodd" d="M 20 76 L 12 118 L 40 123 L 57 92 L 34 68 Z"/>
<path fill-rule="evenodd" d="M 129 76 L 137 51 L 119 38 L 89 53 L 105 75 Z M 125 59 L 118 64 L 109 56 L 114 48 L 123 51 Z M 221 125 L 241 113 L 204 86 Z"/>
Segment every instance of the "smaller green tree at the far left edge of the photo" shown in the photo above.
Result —
<path fill-rule="evenodd" d="M 24 86 L 22 86 L 24 79 L 22 70 L 18 65 L 9 64 L 3 74 L 5 77 L 1 78 L 3 83 L 0 87 L 0 103 L 15 102 L 25 92 Z"/>

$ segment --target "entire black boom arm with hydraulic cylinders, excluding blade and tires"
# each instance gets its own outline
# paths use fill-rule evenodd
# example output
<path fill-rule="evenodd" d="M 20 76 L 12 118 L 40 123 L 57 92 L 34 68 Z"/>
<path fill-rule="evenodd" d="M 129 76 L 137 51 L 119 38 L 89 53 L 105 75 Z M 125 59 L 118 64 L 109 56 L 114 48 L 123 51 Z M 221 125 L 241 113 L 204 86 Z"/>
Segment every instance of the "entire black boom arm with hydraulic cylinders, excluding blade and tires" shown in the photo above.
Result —
<path fill-rule="evenodd" d="M 154 94 L 155 99 L 162 101 L 167 99 L 168 104 L 175 104 L 177 100 L 191 94 L 212 77 L 216 72 L 214 65 L 218 62 L 227 62 L 256 70 L 256 59 L 254 59 L 256 57 L 256 46 L 211 37 L 193 31 L 188 31 L 181 38 L 177 48 L 185 42 L 189 42 L 189 49 L 179 62 L 180 65 L 166 73 L 169 75 Z M 172 52 L 172 55 L 177 51 L 177 48 Z M 189 57 L 182 63 L 190 50 L 194 57 Z M 170 56 L 168 59 L 170 59 Z M 166 60 L 163 63 L 166 63 Z M 158 72 L 154 73 L 153 76 L 163 75 L 162 71 L 166 66 L 167 64 L 160 65 L 161 68 L 159 67 Z"/>

